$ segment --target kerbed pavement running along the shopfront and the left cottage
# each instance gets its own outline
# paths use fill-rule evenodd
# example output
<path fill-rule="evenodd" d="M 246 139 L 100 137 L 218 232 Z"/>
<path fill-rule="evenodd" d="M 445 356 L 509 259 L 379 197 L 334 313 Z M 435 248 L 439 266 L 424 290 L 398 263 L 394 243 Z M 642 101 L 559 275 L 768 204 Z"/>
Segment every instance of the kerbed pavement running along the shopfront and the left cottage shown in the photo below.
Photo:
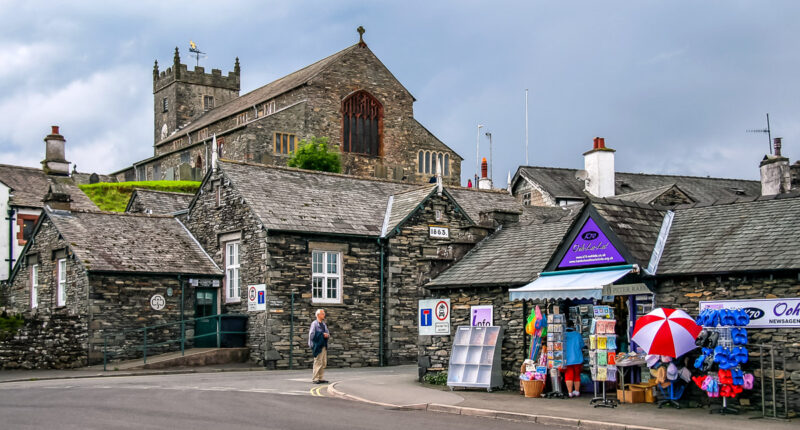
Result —
<path fill-rule="evenodd" d="M 0 383 L 45 379 L 97 378 L 180 373 L 264 371 L 247 363 L 169 370 L 107 371 L 97 369 L 2 371 Z M 269 371 L 282 372 L 282 371 Z M 609 430 L 700 430 L 716 428 L 797 429 L 798 421 L 757 419 L 753 412 L 740 415 L 710 414 L 708 408 L 665 407 L 654 404 L 622 404 L 616 408 L 594 408 L 590 397 L 542 399 L 526 398 L 517 392 L 457 389 L 420 384 L 416 366 L 375 369 L 330 369 L 327 394 L 389 409 L 426 410 L 435 413 L 480 416 L 499 420 Z"/>

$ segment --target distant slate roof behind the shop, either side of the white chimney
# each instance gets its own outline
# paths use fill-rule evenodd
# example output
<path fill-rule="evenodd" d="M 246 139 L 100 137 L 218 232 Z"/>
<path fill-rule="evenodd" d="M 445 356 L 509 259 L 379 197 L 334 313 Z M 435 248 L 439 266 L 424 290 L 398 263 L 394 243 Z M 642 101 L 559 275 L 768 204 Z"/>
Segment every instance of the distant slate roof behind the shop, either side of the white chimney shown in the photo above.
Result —
<path fill-rule="evenodd" d="M 527 177 L 556 198 L 582 199 L 584 182 L 576 179 L 578 169 L 520 166 L 517 175 Z M 714 202 L 725 198 L 757 197 L 761 182 L 744 179 L 704 178 L 699 176 L 651 175 L 616 172 L 615 194 L 624 195 L 675 184 L 695 201 Z M 743 194 L 741 194 L 741 193 Z"/>

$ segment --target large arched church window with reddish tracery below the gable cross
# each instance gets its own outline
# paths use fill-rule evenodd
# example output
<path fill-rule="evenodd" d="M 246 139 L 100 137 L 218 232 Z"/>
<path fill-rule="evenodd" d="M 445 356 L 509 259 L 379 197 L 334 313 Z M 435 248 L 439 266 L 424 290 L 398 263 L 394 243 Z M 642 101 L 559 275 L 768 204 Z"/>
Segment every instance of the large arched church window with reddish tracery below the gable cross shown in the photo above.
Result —
<path fill-rule="evenodd" d="M 342 102 L 342 151 L 381 155 L 383 106 L 366 91 L 358 91 Z"/>

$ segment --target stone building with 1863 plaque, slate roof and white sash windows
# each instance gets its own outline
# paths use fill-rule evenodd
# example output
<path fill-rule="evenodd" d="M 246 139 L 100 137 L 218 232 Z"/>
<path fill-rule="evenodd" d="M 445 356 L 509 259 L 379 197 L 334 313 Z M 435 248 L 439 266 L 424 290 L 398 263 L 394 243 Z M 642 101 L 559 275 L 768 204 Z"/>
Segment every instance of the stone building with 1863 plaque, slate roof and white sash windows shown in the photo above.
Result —
<path fill-rule="evenodd" d="M 251 359 L 270 367 L 310 365 L 317 308 L 332 366 L 416 361 L 422 285 L 493 231 L 491 219 L 520 210 L 502 192 L 216 165 L 186 226 L 226 273 L 219 311 L 249 313 Z M 248 312 L 243 294 L 259 284 L 266 310 Z"/>

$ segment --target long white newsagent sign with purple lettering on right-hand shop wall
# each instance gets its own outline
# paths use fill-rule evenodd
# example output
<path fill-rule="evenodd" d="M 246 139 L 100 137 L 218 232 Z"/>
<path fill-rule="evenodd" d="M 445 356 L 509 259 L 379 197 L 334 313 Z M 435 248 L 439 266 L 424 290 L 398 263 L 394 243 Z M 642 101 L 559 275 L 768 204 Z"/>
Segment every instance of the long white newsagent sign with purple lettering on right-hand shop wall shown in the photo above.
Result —
<path fill-rule="evenodd" d="M 747 328 L 800 327 L 800 298 L 712 300 L 700 302 L 700 310 L 744 309 L 750 315 Z"/>

